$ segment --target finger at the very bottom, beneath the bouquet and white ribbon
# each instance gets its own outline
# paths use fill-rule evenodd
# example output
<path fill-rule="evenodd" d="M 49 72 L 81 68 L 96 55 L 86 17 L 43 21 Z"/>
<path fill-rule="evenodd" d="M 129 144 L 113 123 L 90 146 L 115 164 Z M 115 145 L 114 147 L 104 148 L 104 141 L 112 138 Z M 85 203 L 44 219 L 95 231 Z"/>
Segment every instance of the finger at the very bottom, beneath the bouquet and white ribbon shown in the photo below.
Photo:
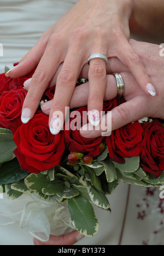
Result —
<path fill-rule="evenodd" d="M 81 235 L 78 231 L 73 231 L 64 236 L 50 236 L 50 240 L 48 242 L 41 242 L 34 238 L 34 245 L 74 245 L 79 240 L 81 240 L 84 236 Z"/>

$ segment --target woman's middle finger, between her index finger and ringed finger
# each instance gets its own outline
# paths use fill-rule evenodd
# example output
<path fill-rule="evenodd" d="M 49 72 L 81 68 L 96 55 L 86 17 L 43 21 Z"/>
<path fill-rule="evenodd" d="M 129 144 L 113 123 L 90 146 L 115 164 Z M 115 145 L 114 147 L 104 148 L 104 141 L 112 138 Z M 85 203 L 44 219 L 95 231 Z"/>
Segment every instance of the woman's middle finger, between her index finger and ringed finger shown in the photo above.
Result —
<path fill-rule="evenodd" d="M 56 135 L 63 127 L 65 110 L 69 107 L 77 79 L 79 77 L 82 56 L 74 49 L 69 51 L 57 77 L 54 100 L 50 110 L 49 126 L 52 134 Z"/>

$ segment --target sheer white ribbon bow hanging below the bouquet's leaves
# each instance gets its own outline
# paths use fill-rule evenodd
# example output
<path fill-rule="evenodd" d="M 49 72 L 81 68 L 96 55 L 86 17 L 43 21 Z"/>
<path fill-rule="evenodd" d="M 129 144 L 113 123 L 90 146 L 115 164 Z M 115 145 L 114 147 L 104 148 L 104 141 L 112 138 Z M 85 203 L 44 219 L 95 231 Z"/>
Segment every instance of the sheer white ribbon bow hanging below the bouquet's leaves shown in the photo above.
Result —
<path fill-rule="evenodd" d="M 27 194 L 8 200 L 4 194 L 0 200 L 0 225 L 16 222 L 43 242 L 48 241 L 50 235 L 60 236 L 75 230 L 67 203 L 54 203 Z"/>

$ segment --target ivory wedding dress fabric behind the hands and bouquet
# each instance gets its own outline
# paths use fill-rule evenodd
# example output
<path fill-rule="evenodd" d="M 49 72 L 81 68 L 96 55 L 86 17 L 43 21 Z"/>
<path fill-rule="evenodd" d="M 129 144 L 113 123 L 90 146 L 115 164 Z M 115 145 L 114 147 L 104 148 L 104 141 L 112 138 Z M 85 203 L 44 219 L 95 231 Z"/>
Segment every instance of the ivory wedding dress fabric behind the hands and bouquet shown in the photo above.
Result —
<path fill-rule="evenodd" d="M 0 43 L 3 44 L 0 72 L 4 72 L 5 65 L 13 67 L 13 63 L 18 62 L 75 2 L 0 0 Z M 119 189 L 108 196 L 112 213 L 94 207 L 99 221 L 98 234 L 85 237 L 76 245 L 163 245 L 164 202 L 160 192 L 157 188 L 145 189 L 121 183 Z M 0 197 L 0 208 L 2 202 Z M 23 210 L 24 203 L 21 207 Z M 0 223 L 5 223 L 5 218 L 1 217 Z M 16 221 L 0 226 L 0 245 L 33 245 L 33 237 L 20 229 L 19 220 Z"/>

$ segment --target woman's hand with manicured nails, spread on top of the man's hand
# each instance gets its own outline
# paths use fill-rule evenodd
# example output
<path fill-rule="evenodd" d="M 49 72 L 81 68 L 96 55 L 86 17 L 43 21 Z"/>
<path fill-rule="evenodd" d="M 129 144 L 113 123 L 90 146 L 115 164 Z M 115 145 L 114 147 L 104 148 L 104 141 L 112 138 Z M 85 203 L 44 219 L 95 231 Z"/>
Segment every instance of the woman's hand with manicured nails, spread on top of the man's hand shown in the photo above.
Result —
<path fill-rule="evenodd" d="M 69 106 L 79 73 L 93 53 L 117 56 L 132 72 L 143 91 L 149 94 L 147 85 L 151 84 L 151 80 L 128 43 L 132 3 L 131 0 L 103 0 L 103 3 L 99 0 L 79 0 L 43 34 L 20 64 L 8 72 L 7 75 L 14 78 L 37 67 L 22 108 L 23 123 L 33 117 L 40 98 L 63 62 L 49 119 L 51 132 L 58 133 L 63 126 L 65 107 Z M 88 77 L 88 110 L 97 109 L 100 112 L 106 89 L 106 62 L 92 60 Z"/>

